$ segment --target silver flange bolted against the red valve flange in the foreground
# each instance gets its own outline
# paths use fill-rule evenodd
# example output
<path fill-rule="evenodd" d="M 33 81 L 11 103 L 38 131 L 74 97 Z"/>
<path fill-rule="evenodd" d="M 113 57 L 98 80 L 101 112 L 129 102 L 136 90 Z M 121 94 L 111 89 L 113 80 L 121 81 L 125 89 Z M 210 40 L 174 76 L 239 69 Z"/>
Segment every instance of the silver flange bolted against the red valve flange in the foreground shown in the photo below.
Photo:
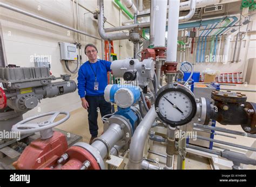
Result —
<path fill-rule="evenodd" d="M 73 146 L 78 146 L 86 149 L 88 152 L 91 153 L 93 157 L 95 157 L 97 163 L 99 164 L 100 169 L 105 169 L 104 161 L 100 156 L 99 151 L 95 147 L 92 147 L 91 145 L 85 142 L 77 142 Z"/>

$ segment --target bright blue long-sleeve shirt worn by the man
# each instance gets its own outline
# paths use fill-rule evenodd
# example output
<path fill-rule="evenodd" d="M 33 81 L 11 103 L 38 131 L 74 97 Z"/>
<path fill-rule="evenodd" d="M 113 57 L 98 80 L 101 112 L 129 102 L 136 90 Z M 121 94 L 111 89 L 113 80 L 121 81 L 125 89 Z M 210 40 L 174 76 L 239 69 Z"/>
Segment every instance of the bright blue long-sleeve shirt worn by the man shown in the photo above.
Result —
<path fill-rule="evenodd" d="M 107 86 L 107 71 L 111 71 L 110 66 L 111 62 L 106 60 L 98 60 L 95 63 L 86 61 L 79 68 L 77 88 L 80 98 L 85 97 L 85 94 L 87 96 L 104 95 L 104 90 Z M 99 83 L 98 90 L 94 90 L 95 74 L 97 76 L 97 82 Z"/>

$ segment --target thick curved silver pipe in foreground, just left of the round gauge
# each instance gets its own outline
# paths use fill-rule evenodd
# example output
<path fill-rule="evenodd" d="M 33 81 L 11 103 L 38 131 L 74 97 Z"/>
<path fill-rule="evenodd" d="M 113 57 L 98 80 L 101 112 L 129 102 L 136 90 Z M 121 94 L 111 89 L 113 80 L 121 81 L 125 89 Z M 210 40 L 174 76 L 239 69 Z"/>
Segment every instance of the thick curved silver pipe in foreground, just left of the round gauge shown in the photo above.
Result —
<path fill-rule="evenodd" d="M 147 139 L 147 134 L 149 133 L 152 123 L 156 117 L 157 113 L 153 105 L 134 131 L 130 144 L 127 169 L 142 169 L 144 145 Z"/>

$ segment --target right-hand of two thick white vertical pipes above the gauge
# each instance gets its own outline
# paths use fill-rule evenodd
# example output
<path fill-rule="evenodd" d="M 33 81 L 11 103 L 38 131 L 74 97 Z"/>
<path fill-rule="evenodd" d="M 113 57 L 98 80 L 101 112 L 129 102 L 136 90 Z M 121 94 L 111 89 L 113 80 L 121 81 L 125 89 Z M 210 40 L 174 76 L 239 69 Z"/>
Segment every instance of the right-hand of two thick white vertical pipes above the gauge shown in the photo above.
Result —
<path fill-rule="evenodd" d="M 169 21 L 166 62 L 177 61 L 177 40 L 179 26 L 179 0 L 169 0 Z"/>

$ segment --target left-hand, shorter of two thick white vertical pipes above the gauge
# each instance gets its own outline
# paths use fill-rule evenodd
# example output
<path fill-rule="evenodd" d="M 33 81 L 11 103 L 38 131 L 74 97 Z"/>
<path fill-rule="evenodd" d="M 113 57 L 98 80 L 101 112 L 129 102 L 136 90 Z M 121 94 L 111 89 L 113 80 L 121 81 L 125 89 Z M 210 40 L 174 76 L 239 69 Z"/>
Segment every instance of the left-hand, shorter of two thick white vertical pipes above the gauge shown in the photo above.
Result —
<path fill-rule="evenodd" d="M 154 29 L 157 34 L 154 34 L 154 46 L 164 47 L 165 46 L 165 30 L 166 30 L 166 13 L 167 13 L 167 0 L 156 1 L 154 6 L 155 11 L 155 23 Z M 177 29 L 178 31 L 178 29 Z M 154 32 L 156 33 L 156 32 Z M 177 41 L 176 41 L 177 42 Z"/>

